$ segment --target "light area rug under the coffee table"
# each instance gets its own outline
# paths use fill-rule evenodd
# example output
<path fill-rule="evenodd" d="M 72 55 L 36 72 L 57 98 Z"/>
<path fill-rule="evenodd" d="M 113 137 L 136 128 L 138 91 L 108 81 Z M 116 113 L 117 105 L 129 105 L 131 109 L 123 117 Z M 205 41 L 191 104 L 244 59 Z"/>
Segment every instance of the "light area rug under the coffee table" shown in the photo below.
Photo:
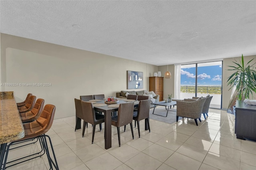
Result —
<path fill-rule="evenodd" d="M 169 109 L 167 117 L 158 116 L 158 115 L 166 116 L 167 111 L 165 110 L 164 106 L 156 107 L 154 114 L 157 114 L 157 115 L 152 114 L 153 110 L 154 110 L 154 108 L 150 109 L 150 112 L 149 112 L 150 119 L 154 119 L 156 121 L 161 121 L 161 122 L 170 123 L 170 124 L 176 122 L 176 110 L 175 109 Z M 179 117 L 179 120 L 180 119 L 182 119 L 182 117 Z"/>

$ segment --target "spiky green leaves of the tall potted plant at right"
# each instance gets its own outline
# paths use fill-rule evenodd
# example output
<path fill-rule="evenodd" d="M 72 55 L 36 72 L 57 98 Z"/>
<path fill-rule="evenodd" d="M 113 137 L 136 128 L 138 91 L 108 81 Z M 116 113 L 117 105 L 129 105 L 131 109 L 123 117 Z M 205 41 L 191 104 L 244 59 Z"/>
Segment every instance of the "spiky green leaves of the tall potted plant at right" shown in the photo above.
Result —
<path fill-rule="evenodd" d="M 256 68 L 252 65 L 249 65 L 253 59 L 248 61 L 248 63 L 244 64 L 244 56 L 242 54 L 242 60 L 234 62 L 235 66 L 228 66 L 231 69 L 230 71 L 235 71 L 232 75 L 228 77 L 228 85 L 230 85 L 230 89 L 235 89 L 234 98 L 239 101 L 243 101 L 244 99 L 249 99 L 250 95 L 253 95 L 253 92 L 256 93 Z M 229 89 L 229 90 L 230 90 Z"/>

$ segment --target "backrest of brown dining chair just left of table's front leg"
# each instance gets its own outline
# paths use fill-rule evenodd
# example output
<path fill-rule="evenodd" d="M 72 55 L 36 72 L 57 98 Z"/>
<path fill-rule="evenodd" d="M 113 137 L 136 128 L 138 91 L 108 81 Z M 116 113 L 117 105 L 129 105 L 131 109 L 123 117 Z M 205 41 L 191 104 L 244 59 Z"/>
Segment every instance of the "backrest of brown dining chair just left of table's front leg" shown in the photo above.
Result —
<path fill-rule="evenodd" d="M 81 101 L 84 121 L 94 125 L 96 122 L 94 107 L 91 102 Z"/>

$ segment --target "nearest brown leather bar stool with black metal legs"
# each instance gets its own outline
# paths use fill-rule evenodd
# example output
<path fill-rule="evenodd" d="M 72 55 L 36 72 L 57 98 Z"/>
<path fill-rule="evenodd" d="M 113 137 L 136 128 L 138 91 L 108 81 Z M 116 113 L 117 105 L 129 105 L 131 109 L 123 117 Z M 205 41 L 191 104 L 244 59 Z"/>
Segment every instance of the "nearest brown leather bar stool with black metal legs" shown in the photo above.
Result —
<path fill-rule="evenodd" d="M 16 163 L 16 164 L 19 164 L 19 163 L 22 163 L 22 162 L 25 162 L 25 161 L 28 161 L 28 160 L 31 160 L 31 159 L 34 159 L 37 157 L 41 157 L 46 152 L 46 155 L 48 157 L 48 162 L 50 165 L 50 169 L 53 169 L 53 166 L 56 170 L 59 169 L 57 160 L 56 160 L 56 156 L 54 154 L 51 138 L 50 138 L 50 136 L 46 135 L 46 132 L 48 132 L 48 130 L 50 130 L 50 128 L 52 126 L 55 110 L 56 110 L 56 107 L 54 105 L 50 105 L 50 104 L 45 105 L 44 109 L 38 119 L 36 119 L 33 122 L 23 124 L 25 136 L 24 136 L 24 138 L 21 138 L 20 140 L 16 140 L 16 141 L 10 142 L 8 144 L 8 146 L 6 148 L 6 156 L 5 156 L 5 160 L 4 160 L 4 165 L 11 163 L 11 162 L 16 162 L 23 158 L 28 158 L 27 160 L 22 160 L 22 161 Z M 48 140 L 46 140 L 46 137 L 48 138 Z M 26 141 L 30 141 L 30 140 L 34 140 L 34 139 L 39 139 L 37 141 L 40 142 L 40 146 L 41 146 L 40 152 L 32 153 L 28 156 L 24 156 L 23 158 L 12 160 L 12 161 L 6 163 L 8 153 L 10 150 L 10 146 L 12 146 L 13 144 L 17 144 L 20 142 L 26 142 Z M 50 147 L 48 146 L 48 141 L 50 143 Z M 26 146 L 26 145 L 23 145 L 23 146 Z M 19 147 L 22 147 L 22 146 L 18 146 L 16 148 L 19 148 Z M 52 150 L 51 153 L 49 152 L 50 148 Z M 15 149 L 15 148 L 12 148 L 12 149 Z M 42 151 L 44 151 L 44 152 L 41 154 Z M 50 155 L 53 155 L 54 159 L 52 159 Z M 30 157 L 30 156 L 32 156 L 32 157 Z M 12 164 L 10 166 L 13 166 L 16 164 Z M 10 167 L 10 166 L 7 166 L 7 167 Z M 5 169 L 5 167 L 3 167 L 3 169 Z"/>

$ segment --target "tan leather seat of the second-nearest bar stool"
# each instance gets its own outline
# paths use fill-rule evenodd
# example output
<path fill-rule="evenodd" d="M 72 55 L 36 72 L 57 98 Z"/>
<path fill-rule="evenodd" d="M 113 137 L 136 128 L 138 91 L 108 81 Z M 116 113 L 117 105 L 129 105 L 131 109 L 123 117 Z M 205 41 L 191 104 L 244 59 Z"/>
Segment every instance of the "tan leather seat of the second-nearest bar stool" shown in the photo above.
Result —
<path fill-rule="evenodd" d="M 44 109 L 44 99 L 37 99 L 36 103 L 31 111 L 20 113 L 20 119 L 22 123 L 34 121 L 40 117 Z"/>

